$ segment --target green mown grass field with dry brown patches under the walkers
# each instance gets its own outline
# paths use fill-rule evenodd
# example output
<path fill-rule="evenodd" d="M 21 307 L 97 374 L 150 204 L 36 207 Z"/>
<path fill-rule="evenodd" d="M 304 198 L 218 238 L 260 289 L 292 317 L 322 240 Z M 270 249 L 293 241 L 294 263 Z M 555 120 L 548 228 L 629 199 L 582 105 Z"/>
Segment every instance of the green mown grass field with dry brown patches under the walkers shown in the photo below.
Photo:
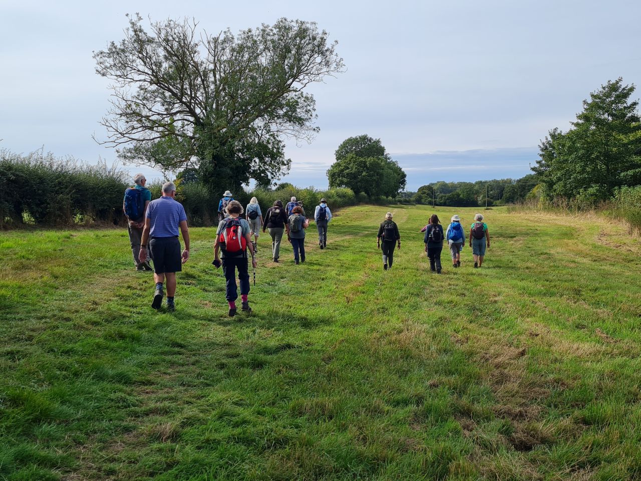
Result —
<path fill-rule="evenodd" d="M 325 251 L 312 226 L 301 266 L 262 237 L 233 319 L 210 228 L 173 314 L 124 230 L 0 233 L 0 479 L 641 479 L 638 241 L 497 208 L 487 264 L 444 251 L 437 276 L 433 210 L 391 210 L 387 273 L 385 207 L 340 212 Z"/>

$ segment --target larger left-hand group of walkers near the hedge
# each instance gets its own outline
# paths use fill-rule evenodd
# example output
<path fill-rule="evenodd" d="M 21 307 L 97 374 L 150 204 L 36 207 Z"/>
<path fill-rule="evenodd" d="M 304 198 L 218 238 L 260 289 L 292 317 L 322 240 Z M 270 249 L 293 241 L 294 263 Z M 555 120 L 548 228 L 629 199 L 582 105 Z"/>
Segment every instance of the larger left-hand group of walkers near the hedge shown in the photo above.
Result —
<path fill-rule="evenodd" d="M 162 197 L 151 200 L 151 191 L 145 187 L 144 174 L 134 176 L 135 185 L 125 191 L 122 210 L 128 219 L 129 242 L 134 263 L 138 271 L 154 271 L 154 298 L 151 307 L 159 309 L 165 297 L 163 285 L 167 288 L 167 310 L 174 311 L 176 292 L 176 273 L 182 270 L 189 258 L 189 230 L 187 215 L 183 205 L 176 201 L 176 185 L 166 182 L 162 187 Z M 246 219 L 241 215 L 245 214 Z M 314 210 L 314 221 L 319 233 L 320 249 L 327 248 L 327 227 L 331 221 L 331 210 L 326 199 L 320 199 Z M 219 223 L 213 246 L 215 267 L 221 267 L 226 282 L 226 299 L 229 316 L 237 314 L 236 300 L 240 282 L 241 310 L 251 312 L 249 306 L 249 255 L 252 267 L 257 266 L 258 238 L 260 231 L 269 232 L 272 238 L 272 259 L 279 262 L 283 235 L 292 244 L 294 263 L 305 262 L 305 232 L 310 221 L 305 217 L 303 202 L 292 197 L 283 207 L 279 200 L 267 210 L 263 217 L 258 199 L 253 197 L 246 208 L 233 198 L 227 190 L 219 202 Z M 181 252 L 178 239 L 183 235 L 185 249 Z M 149 260 L 153 260 L 152 269 Z M 255 276 L 255 271 L 254 271 Z M 254 278 L 255 281 L 255 278 Z"/>

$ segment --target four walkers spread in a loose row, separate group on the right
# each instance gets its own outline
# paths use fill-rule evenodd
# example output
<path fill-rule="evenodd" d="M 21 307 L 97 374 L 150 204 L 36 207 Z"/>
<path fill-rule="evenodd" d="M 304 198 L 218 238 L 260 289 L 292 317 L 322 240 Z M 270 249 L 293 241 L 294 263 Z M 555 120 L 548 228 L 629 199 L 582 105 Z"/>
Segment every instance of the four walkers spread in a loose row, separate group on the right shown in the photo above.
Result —
<path fill-rule="evenodd" d="M 398 246 L 401 249 L 401 234 L 396 223 L 392 220 L 392 212 L 385 214 L 385 220 L 381 222 L 376 237 L 377 246 L 383 251 L 383 270 L 387 271 L 394 264 L 394 249 Z M 429 223 L 420 230 L 425 233 L 425 251 L 428 253 L 429 269 L 440 274 L 442 271 L 441 252 L 443 244 L 447 241 L 452 254 L 452 267 L 461 267 L 461 251 L 465 244 L 465 230 L 461 224 L 461 218 L 453 215 L 447 230 L 443 232 L 443 226 L 438 220 L 438 215 L 432 214 Z M 481 267 L 485 259 L 485 250 L 490 247 L 490 231 L 487 224 L 483 222 L 483 214 L 474 215 L 474 223 L 470 226 L 469 246 L 472 249 L 474 268 Z"/>

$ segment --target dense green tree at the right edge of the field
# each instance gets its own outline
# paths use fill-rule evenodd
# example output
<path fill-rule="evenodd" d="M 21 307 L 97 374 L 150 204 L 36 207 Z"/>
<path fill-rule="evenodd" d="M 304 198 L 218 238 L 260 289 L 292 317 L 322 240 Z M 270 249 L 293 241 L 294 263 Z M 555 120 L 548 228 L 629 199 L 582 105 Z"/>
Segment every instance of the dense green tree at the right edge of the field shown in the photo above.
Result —
<path fill-rule="evenodd" d="M 641 123 L 634 85 L 622 78 L 608 81 L 583 101 L 572 128 L 549 131 L 539 146 L 540 175 L 547 196 L 596 203 L 612 196 L 616 187 L 641 179 Z"/>

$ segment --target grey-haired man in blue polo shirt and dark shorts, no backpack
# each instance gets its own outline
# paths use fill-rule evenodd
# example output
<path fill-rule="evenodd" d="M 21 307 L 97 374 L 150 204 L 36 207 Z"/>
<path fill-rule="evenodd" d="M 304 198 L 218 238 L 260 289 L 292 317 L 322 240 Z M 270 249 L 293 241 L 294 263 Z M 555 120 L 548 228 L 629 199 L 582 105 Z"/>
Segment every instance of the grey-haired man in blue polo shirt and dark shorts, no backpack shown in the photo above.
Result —
<path fill-rule="evenodd" d="M 189 258 L 189 230 L 187 214 L 181 203 L 176 201 L 176 185 L 165 182 L 162 186 L 162 197 L 149 203 L 140 242 L 140 258 L 149 253 L 154 261 L 154 282 L 156 291 L 151 307 L 159 309 L 162 306 L 163 282 L 167 279 L 167 310 L 176 310 L 174 294 L 176 294 L 176 273 L 182 271 L 182 264 Z M 178 231 L 183 234 L 185 250 L 180 253 Z"/>

